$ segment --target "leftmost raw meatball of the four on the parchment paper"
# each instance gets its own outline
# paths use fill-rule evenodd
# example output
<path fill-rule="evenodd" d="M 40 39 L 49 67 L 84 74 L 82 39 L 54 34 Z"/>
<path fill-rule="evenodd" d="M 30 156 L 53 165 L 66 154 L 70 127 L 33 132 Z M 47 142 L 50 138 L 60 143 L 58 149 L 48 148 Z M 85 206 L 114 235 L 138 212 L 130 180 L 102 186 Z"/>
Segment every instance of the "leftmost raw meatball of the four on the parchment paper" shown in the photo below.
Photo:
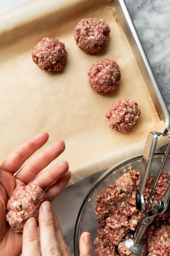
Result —
<path fill-rule="evenodd" d="M 32 60 L 44 71 L 60 71 L 66 61 L 66 48 L 57 38 L 45 37 L 32 51 Z"/>

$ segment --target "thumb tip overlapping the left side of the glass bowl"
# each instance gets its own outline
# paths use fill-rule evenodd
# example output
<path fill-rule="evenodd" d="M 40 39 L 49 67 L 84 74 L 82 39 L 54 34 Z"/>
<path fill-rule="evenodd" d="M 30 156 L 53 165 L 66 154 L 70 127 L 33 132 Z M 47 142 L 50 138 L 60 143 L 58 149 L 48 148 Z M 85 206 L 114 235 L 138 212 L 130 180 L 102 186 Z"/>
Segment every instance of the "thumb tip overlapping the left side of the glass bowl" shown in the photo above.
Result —
<path fill-rule="evenodd" d="M 88 232 L 83 232 L 80 236 L 80 256 L 92 256 L 92 244 Z"/>

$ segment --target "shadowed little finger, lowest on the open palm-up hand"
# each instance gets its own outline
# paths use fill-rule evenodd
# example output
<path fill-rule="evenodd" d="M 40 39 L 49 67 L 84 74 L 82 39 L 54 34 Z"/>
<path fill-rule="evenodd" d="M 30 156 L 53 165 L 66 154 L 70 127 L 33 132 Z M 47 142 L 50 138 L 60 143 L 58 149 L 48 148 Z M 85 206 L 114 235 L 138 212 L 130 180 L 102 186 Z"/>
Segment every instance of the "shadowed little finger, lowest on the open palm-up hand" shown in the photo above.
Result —
<path fill-rule="evenodd" d="M 61 178 L 59 178 L 55 183 L 53 183 L 50 187 L 48 187 L 45 190 L 47 199 L 52 202 L 63 190 L 63 188 L 66 187 L 69 180 L 71 178 L 71 172 L 68 171 L 66 174 L 64 174 Z"/>

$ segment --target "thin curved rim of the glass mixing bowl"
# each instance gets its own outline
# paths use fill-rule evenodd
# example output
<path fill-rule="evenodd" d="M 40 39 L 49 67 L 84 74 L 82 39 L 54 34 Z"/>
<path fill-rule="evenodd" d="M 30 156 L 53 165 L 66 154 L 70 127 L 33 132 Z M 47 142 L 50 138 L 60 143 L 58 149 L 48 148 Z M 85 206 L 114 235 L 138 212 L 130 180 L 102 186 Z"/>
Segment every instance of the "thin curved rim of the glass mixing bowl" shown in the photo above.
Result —
<path fill-rule="evenodd" d="M 154 153 L 154 157 L 157 157 L 157 156 L 163 156 L 165 155 L 165 152 L 155 152 Z M 170 156 L 170 153 L 169 153 L 169 156 Z M 168 157 L 169 157 L 168 156 Z M 103 179 L 108 176 L 111 172 L 113 172 L 114 170 L 122 167 L 123 165 L 125 164 L 128 164 L 132 161 L 135 161 L 135 160 L 141 160 L 143 157 L 143 155 L 137 155 L 135 157 L 132 157 L 132 158 L 128 158 L 126 159 L 125 161 L 122 161 L 120 162 L 119 164 L 116 164 L 112 167 L 110 167 L 109 169 L 106 170 L 106 172 L 104 172 L 98 179 L 97 181 L 90 187 L 90 189 L 88 190 L 88 192 L 86 193 L 84 199 L 83 199 L 83 202 L 82 202 L 82 205 L 80 207 L 80 210 L 79 210 L 79 213 L 77 215 L 77 218 L 76 218 L 76 223 L 75 223 L 75 228 L 74 228 L 74 255 L 75 256 L 79 256 L 79 250 L 77 249 L 76 247 L 76 238 L 77 238 L 77 234 L 79 233 L 79 225 L 80 225 L 80 221 L 79 221 L 79 218 L 80 218 L 80 214 L 86 204 L 86 202 L 88 201 L 90 195 L 93 193 L 93 191 L 96 189 L 96 187 L 103 181 Z"/>

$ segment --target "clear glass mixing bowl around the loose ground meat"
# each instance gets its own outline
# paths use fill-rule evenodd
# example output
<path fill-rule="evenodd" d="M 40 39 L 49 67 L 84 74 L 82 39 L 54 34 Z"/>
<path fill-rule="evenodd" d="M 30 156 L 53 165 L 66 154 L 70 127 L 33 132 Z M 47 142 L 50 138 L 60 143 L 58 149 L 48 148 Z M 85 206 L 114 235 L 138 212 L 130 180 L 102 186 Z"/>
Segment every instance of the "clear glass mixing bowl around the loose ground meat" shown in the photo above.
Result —
<path fill-rule="evenodd" d="M 155 177 L 158 173 L 159 168 L 161 166 L 162 159 L 164 157 L 164 153 L 155 153 L 152 166 L 150 169 L 150 177 Z M 79 256 L 79 239 L 80 235 L 84 231 L 88 231 L 91 234 L 93 252 L 95 251 L 95 245 L 93 241 L 96 238 L 96 230 L 97 230 L 97 216 L 95 214 L 95 198 L 103 188 L 108 188 L 110 184 L 114 183 L 115 180 L 122 176 L 125 172 L 128 172 L 130 169 L 140 169 L 141 168 L 142 156 L 137 156 L 131 158 L 119 165 L 113 166 L 109 170 L 107 170 L 89 189 L 87 195 L 84 198 L 83 204 L 80 208 L 74 232 L 74 255 Z M 170 179 L 170 155 L 167 158 L 166 164 L 164 166 L 164 170 L 168 172 L 168 177 Z"/>

